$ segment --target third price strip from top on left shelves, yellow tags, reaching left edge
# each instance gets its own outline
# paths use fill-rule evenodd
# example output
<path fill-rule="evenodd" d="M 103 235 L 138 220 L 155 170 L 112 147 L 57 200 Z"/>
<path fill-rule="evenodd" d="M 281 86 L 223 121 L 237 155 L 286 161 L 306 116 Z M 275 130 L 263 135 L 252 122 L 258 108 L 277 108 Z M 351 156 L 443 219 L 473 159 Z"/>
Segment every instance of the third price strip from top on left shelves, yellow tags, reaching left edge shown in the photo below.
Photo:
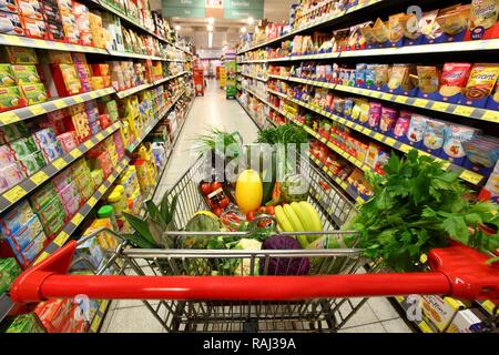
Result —
<path fill-rule="evenodd" d="M 28 196 L 34 190 L 39 189 L 43 183 L 45 183 L 47 181 L 59 174 L 62 169 L 72 164 L 80 156 L 82 156 L 93 146 L 105 140 L 109 135 L 114 133 L 120 128 L 121 128 L 120 122 L 114 123 L 113 125 L 92 136 L 90 140 L 83 142 L 64 156 L 58 158 L 52 163 L 48 164 L 47 166 L 44 166 L 30 178 L 24 179 L 18 185 L 3 192 L 0 195 L 0 213 L 6 212 L 8 209 L 12 207 L 16 203 L 18 203 L 21 199 Z"/>

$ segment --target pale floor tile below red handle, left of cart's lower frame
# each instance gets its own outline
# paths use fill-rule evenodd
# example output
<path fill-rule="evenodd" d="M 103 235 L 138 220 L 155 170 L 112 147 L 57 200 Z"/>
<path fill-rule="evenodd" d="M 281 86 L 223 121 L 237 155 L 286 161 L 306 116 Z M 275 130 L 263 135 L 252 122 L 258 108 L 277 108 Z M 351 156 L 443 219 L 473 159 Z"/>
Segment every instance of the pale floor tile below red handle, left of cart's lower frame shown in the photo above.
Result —
<path fill-rule="evenodd" d="M 161 333 L 163 326 L 145 307 L 114 311 L 106 333 Z"/>

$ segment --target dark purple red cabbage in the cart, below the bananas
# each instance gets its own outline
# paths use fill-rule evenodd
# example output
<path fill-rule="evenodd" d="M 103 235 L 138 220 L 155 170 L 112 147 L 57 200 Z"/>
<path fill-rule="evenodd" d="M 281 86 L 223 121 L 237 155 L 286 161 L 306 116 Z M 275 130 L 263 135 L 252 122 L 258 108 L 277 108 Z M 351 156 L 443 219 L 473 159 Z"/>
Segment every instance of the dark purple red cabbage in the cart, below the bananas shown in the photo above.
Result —
<path fill-rule="evenodd" d="M 271 236 L 263 244 L 262 250 L 296 250 L 302 245 L 291 236 Z M 267 275 L 306 275 L 310 270 L 307 257 L 269 257 Z M 259 273 L 265 273 L 265 258 L 259 260 Z"/>

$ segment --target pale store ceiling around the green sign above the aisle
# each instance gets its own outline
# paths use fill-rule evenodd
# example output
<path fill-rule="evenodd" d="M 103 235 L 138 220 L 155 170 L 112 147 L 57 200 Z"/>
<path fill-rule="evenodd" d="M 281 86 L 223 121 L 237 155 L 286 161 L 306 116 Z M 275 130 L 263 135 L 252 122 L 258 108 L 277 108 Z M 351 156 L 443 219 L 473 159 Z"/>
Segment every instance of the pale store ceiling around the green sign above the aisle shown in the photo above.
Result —
<path fill-rule="evenodd" d="M 265 0 L 264 1 L 264 16 L 272 22 L 281 22 L 287 20 L 289 16 L 289 7 L 292 3 L 296 3 L 297 0 Z M 152 10 L 161 9 L 161 0 L 150 0 Z M 165 16 L 163 13 L 163 16 Z M 257 21 L 253 24 L 256 24 Z M 208 32 L 206 30 L 207 19 L 186 19 L 186 18 L 172 18 L 171 23 L 173 26 L 180 24 L 180 34 L 189 38 L 197 50 L 208 49 Z M 213 30 L 213 43 L 212 49 L 222 49 L 226 43 L 230 48 L 241 41 L 241 28 L 246 27 L 249 30 L 247 20 L 225 20 L 215 19 Z"/>

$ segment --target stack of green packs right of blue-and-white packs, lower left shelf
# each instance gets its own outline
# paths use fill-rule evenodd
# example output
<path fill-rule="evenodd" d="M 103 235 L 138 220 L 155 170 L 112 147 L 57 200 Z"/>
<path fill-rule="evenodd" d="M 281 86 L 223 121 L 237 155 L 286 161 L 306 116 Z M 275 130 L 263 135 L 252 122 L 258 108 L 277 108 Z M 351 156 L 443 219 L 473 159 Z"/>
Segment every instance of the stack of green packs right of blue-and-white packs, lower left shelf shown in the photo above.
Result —
<path fill-rule="evenodd" d="M 48 183 L 37 190 L 31 195 L 30 202 L 40 217 L 47 237 L 55 236 L 64 226 L 68 215 L 54 185 Z"/>

